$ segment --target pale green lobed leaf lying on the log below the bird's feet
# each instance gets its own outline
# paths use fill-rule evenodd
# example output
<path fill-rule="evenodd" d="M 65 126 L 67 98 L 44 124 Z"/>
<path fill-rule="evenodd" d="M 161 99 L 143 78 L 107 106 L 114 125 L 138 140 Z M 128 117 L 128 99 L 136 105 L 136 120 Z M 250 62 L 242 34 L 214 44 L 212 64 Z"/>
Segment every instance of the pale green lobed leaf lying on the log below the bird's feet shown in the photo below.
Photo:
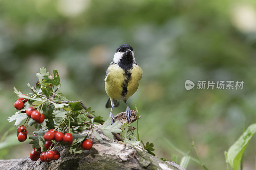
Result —
<path fill-rule="evenodd" d="M 108 120 L 99 129 L 101 129 L 102 133 L 106 135 L 106 137 L 108 137 L 110 140 L 114 140 L 111 132 L 120 133 L 122 130 L 119 128 L 121 128 L 122 124 L 118 124 L 119 121 L 116 121 L 113 124 L 111 124 L 111 122 L 112 119 L 109 117 Z"/>

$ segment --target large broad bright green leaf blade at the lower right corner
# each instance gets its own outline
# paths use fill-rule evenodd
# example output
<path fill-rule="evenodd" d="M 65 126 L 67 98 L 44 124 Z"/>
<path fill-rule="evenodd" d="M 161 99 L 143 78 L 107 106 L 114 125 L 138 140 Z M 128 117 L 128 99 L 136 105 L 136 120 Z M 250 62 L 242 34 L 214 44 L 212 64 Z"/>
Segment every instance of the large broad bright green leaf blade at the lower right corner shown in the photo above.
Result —
<path fill-rule="evenodd" d="M 228 149 L 228 163 L 234 170 L 239 169 L 239 165 L 244 153 L 244 150 L 256 132 L 256 123 L 250 125 L 244 133 L 237 139 L 237 141 Z"/>

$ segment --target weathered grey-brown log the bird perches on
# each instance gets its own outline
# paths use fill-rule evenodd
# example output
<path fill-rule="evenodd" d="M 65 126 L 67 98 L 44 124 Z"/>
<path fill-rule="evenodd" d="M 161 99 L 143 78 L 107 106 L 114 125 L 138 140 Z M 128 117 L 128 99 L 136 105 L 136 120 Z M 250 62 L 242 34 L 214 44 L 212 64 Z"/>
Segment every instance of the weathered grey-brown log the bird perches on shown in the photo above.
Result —
<path fill-rule="evenodd" d="M 132 110 L 132 118 L 129 121 L 136 121 L 136 113 Z M 139 116 L 140 117 L 140 116 Z M 115 116 L 121 123 L 126 122 L 125 112 Z M 101 126 L 101 125 L 97 125 Z M 95 128 L 103 140 L 97 140 L 91 132 L 93 143 L 92 149 L 83 151 L 81 154 L 70 154 L 67 146 L 59 146 L 60 159 L 51 162 L 33 162 L 29 157 L 22 159 L 0 160 L 0 169 L 27 170 L 27 169 L 58 169 L 58 170 L 84 170 L 84 169 L 164 169 L 164 170 L 185 170 L 175 162 L 164 162 L 156 156 L 149 154 L 141 146 L 132 146 L 124 142 L 111 141 Z M 87 134 L 85 130 L 82 134 Z"/>

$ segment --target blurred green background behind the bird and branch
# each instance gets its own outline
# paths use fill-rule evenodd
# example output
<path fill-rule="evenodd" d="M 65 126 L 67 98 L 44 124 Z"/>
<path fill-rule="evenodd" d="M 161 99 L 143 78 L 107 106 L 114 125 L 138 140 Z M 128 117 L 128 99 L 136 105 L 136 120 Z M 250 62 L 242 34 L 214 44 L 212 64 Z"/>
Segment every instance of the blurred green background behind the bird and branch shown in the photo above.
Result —
<path fill-rule="evenodd" d="M 203 0 L 35 0 L 0 2 L 0 137 L 8 147 L 0 159 L 28 156 L 32 148 L 16 139 L 15 86 L 29 93 L 36 72 L 60 74 L 61 91 L 108 118 L 104 77 L 116 48 L 130 44 L 143 69 L 137 105 L 140 139 L 152 142 L 158 157 L 172 160 L 190 149 L 209 169 L 225 169 L 228 150 L 256 119 L 256 2 Z M 243 90 L 184 88 L 186 80 L 239 80 Z M 114 114 L 125 110 L 122 103 Z M 135 125 L 136 126 L 136 125 Z M 28 129 L 30 135 L 33 129 Z M 5 133 L 5 134 L 7 134 Z M 14 134 L 14 135 L 11 135 Z M 244 155 L 254 168 L 255 137 Z M 192 152 L 192 156 L 195 153 Z M 188 169 L 202 169 L 189 162 Z"/>

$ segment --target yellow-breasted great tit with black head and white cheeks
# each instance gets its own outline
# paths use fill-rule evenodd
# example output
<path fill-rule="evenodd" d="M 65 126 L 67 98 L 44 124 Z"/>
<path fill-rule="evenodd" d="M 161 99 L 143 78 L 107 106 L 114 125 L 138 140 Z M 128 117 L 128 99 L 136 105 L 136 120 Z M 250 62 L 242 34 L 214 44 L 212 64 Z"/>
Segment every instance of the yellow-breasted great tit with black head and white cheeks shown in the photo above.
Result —
<path fill-rule="evenodd" d="M 131 117 L 131 109 L 126 102 L 137 91 L 141 78 L 142 69 L 135 62 L 132 46 L 124 44 L 118 47 L 105 76 L 105 91 L 109 97 L 106 107 L 111 107 L 109 117 L 112 122 L 115 122 L 113 107 L 119 105 L 119 100 L 126 104 L 127 119 Z"/>

